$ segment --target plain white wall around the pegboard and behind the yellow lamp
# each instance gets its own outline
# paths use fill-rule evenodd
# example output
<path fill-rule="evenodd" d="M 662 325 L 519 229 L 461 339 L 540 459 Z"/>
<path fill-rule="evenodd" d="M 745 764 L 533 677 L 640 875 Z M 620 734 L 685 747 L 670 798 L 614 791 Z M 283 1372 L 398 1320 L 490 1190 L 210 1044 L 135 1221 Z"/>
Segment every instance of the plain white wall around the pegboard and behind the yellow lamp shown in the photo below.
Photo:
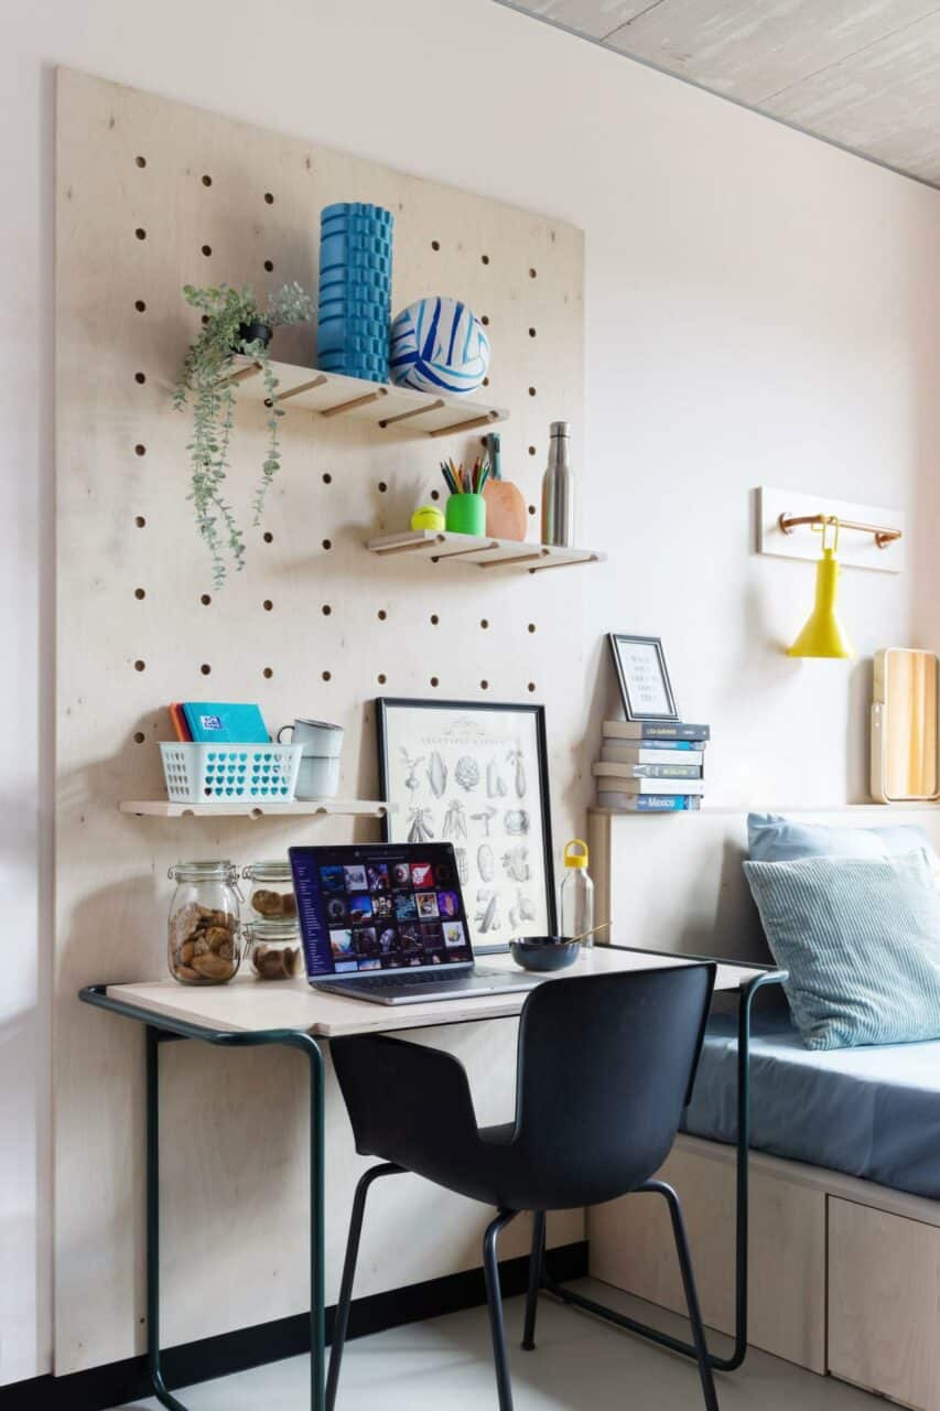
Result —
<path fill-rule="evenodd" d="M 716 727 L 716 803 L 864 796 L 868 666 L 779 653 L 812 569 L 749 553 L 751 487 L 903 505 L 913 569 L 847 574 L 844 615 L 862 653 L 937 645 L 936 193 L 488 0 L 7 0 L 0 1383 L 49 1366 L 56 62 L 584 227 L 582 536 L 611 555 L 577 580 L 586 629 L 665 636 L 680 707 Z M 589 680 L 586 711 L 605 696 Z"/>

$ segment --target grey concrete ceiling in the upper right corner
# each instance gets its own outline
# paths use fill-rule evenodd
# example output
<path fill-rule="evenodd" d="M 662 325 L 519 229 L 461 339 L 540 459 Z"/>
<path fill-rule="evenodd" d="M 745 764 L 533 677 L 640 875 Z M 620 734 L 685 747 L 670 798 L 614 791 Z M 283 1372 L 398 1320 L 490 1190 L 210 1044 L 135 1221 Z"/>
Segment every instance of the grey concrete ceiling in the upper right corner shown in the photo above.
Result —
<path fill-rule="evenodd" d="M 502 0 L 940 186 L 934 0 Z"/>

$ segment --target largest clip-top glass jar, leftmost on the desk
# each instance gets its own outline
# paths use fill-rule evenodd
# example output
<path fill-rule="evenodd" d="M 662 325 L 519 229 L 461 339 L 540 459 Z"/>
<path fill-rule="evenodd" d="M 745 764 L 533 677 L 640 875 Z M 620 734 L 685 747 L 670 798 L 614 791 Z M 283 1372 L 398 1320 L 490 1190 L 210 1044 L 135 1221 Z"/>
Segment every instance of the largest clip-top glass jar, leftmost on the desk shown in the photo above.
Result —
<path fill-rule="evenodd" d="M 237 869 L 231 862 L 178 862 L 169 903 L 169 974 L 182 985 L 224 985 L 241 964 Z"/>

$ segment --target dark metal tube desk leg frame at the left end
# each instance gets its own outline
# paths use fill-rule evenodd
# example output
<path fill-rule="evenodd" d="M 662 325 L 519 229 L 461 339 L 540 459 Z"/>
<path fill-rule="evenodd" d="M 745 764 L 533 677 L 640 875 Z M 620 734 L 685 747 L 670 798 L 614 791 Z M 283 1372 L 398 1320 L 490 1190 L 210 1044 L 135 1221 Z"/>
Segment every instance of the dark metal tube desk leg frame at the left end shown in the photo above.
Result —
<path fill-rule="evenodd" d="M 226 1048 L 282 1044 L 301 1048 L 311 1068 L 311 1411 L 325 1411 L 325 1281 L 323 1281 L 323 1055 L 309 1036 L 291 1030 L 257 1034 L 206 1034 L 182 1026 L 165 1033 L 147 1024 L 147 1362 L 154 1394 L 168 1411 L 186 1407 L 164 1380 L 159 1350 L 159 1044 L 172 1038 L 202 1038 Z"/>

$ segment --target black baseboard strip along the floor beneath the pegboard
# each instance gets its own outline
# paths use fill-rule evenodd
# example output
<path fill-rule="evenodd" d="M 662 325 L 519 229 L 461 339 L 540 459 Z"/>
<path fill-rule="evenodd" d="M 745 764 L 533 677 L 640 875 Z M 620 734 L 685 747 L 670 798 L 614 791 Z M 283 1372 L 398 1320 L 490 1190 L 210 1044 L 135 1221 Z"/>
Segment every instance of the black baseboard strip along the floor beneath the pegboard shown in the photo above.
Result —
<path fill-rule="evenodd" d="M 548 1264 L 552 1276 L 560 1281 L 583 1278 L 587 1274 L 587 1240 L 549 1250 Z M 529 1261 L 525 1257 L 508 1259 L 500 1264 L 507 1298 L 525 1292 L 528 1270 Z M 366 1338 L 387 1328 L 402 1328 L 426 1318 L 478 1308 L 484 1302 L 483 1268 L 446 1274 L 408 1288 L 357 1298 L 350 1314 L 350 1338 Z M 333 1308 L 326 1312 L 327 1339 L 333 1335 Z M 196 1381 L 247 1371 L 265 1362 L 296 1357 L 309 1352 L 309 1324 L 303 1314 L 298 1314 L 169 1348 L 164 1353 L 164 1371 L 169 1387 L 188 1387 Z M 34 1377 L 0 1387 L 0 1411 L 110 1411 L 112 1407 L 148 1395 L 147 1359 L 128 1357 L 89 1371 L 75 1371 L 68 1377 Z"/>

